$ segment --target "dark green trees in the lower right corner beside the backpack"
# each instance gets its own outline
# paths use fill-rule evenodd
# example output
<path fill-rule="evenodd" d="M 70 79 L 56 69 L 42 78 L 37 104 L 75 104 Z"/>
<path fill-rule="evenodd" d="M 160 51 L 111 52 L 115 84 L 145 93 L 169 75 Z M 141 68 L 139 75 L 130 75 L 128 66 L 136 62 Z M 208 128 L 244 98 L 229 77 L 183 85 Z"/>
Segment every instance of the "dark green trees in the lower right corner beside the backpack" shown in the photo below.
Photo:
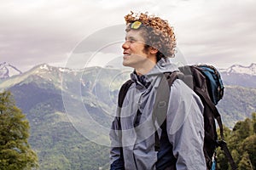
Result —
<path fill-rule="evenodd" d="M 256 113 L 252 118 L 236 122 L 232 130 L 224 128 L 224 139 L 238 165 L 239 170 L 253 170 L 256 168 Z M 230 169 L 228 160 L 222 150 L 218 150 L 218 168 Z"/>

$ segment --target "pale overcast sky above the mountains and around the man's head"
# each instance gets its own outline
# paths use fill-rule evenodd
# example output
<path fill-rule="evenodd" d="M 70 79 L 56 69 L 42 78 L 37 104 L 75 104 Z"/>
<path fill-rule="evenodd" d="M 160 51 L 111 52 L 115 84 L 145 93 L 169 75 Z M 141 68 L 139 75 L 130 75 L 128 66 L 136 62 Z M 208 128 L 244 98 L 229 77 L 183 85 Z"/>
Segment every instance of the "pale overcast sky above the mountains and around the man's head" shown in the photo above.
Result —
<path fill-rule="evenodd" d="M 104 65 L 121 56 L 124 16 L 132 10 L 168 20 L 177 37 L 177 57 L 189 64 L 227 68 L 256 63 L 255 0 L 125 2 L 0 0 L 0 62 L 9 62 L 21 71 L 42 63 L 69 66 L 71 58 L 76 58 L 75 62 L 85 59 L 80 62 L 83 65 L 89 61 L 90 65 Z M 116 35 L 119 39 L 110 38 Z M 89 41 L 90 37 L 97 38 Z M 96 51 L 86 54 L 85 50 L 77 57 L 74 51 L 83 42 L 83 48 Z M 108 43 L 108 48 L 98 42 Z"/>

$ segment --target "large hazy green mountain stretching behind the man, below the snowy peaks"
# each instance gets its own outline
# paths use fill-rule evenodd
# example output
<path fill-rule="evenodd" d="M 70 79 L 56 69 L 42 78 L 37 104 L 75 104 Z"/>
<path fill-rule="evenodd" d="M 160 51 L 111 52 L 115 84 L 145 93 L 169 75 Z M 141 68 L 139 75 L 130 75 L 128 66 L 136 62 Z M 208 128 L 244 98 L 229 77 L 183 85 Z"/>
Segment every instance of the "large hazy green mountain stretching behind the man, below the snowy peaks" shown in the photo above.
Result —
<path fill-rule="evenodd" d="M 4 79 L 0 91 L 9 89 L 26 114 L 40 169 L 108 169 L 104 129 L 111 126 L 119 87 L 128 78 L 129 73 L 113 68 L 71 70 L 43 64 Z M 256 88 L 225 84 L 224 90 L 218 110 L 225 126 L 233 127 L 256 111 Z"/>

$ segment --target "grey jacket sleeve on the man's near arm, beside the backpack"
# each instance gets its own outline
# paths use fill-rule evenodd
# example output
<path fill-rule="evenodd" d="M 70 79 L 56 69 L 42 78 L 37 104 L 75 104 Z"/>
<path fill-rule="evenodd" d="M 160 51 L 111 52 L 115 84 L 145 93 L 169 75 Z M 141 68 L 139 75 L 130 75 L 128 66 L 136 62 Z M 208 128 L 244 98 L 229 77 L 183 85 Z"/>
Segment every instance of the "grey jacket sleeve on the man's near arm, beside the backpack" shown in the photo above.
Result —
<path fill-rule="evenodd" d="M 167 114 L 168 138 L 177 170 L 206 170 L 201 99 L 181 80 L 173 82 Z"/>

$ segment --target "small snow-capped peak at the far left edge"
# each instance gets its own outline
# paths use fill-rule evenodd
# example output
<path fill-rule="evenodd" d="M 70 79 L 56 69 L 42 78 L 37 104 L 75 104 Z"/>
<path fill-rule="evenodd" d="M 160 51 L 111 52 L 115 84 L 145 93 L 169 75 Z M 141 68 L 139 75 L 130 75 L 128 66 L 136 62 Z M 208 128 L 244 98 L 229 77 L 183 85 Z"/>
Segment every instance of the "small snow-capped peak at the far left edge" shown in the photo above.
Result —
<path fill-rule="evenodd" d="M 9 78 L 15 75 L 20 75 L 22 72 L 14 65 L 7 62 L 0 63 L 0 79 Z"/>

